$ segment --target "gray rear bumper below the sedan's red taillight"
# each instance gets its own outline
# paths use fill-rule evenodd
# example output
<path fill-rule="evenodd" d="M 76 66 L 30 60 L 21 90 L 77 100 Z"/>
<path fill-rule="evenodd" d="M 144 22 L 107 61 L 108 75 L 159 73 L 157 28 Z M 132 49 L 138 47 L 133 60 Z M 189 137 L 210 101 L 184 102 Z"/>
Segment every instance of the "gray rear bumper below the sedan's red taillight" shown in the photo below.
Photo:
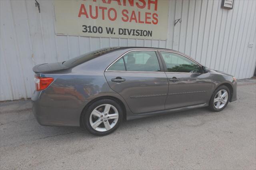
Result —
<path fill-rule="evenodd" d="M 80 115 L 89 100 L 52 100 L 36 91 L 32 111 L 43 126 L 80 126 Z"/>

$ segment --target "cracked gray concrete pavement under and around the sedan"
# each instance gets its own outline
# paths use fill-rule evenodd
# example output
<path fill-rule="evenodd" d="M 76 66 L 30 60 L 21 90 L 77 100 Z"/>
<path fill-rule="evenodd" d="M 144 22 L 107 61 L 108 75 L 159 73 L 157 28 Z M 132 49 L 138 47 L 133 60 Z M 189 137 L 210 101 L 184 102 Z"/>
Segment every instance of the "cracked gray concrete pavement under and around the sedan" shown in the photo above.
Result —
<path fill-rule="evenodd" d="M 43 127 L 31 102 L 2 102 L 0 169 L 256 169 L 256 80 L 238 100 L 127 121 L 98 137 L 79 127 Z"/>

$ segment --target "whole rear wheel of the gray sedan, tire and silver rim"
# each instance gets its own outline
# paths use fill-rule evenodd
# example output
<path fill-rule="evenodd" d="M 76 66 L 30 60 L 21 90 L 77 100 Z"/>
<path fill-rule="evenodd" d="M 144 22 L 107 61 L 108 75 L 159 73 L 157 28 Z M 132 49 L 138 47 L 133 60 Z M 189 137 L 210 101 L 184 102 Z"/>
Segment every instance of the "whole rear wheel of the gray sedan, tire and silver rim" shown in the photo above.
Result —
<path fill-rule="evenodd" d="M 114 100 L 101 99 L 84 113 L 84 127 L 92 134 L 103 136 L 114 132 L 123 119 L 122 107 Z"/>

